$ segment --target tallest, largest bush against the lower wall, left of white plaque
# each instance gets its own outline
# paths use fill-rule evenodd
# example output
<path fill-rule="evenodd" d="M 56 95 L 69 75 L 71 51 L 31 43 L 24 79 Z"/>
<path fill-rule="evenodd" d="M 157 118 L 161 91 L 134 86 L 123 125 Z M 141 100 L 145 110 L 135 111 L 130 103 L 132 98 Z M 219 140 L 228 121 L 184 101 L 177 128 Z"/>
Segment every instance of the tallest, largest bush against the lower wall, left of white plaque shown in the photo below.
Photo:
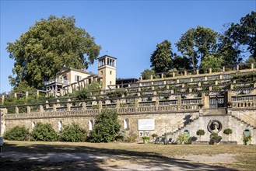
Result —
<path fill-rule="evenodd" d="M 117 120 L 117 112 L 103 110 L 96 118 L 93 130 L 89 132 L 91 142 L 110 142 L 114 141 L 121 125 Z"/>

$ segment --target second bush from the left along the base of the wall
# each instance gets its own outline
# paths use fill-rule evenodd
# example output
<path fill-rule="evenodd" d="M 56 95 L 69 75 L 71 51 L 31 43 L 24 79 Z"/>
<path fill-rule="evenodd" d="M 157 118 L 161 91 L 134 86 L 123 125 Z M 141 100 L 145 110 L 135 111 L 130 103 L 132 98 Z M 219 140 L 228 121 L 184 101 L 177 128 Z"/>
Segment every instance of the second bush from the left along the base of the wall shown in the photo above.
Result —
<path fill-rule="evenodd" d="M 38 122 L 31 132 L 32 141 L 57 141 L 58 135 L 51 127 L 51 124 L 42 124 Z"/>

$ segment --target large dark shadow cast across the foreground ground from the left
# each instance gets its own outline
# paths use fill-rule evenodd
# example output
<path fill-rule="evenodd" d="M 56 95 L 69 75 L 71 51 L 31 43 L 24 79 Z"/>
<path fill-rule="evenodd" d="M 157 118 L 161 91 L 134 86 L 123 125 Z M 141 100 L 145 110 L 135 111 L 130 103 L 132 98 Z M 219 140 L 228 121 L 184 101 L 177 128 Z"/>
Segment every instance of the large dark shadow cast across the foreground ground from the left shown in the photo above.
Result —
<path fill-rule="evenodd" d="M 18 146 L 6 143 L 0 159 L 1 170 L 235 170 L 151 152 L 78 145 Z"/>

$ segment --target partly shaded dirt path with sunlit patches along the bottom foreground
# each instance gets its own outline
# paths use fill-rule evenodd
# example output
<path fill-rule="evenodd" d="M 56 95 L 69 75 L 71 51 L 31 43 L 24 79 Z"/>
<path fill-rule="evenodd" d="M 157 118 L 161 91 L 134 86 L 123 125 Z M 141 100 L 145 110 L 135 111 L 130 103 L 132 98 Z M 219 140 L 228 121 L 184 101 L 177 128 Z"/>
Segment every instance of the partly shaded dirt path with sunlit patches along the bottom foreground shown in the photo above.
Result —
<path fill-rule="evenodd" d="M 229 170 L 226 163 L 233 155 L 186 155 L 173 159 L 147 159 L 123 155 L 93 153 L 22 152 L 0 153 L 2 170 Z M 209 162 L 210 161 L 210 162 Z M 230 169 L 233 170 L 233 169 Z"/>

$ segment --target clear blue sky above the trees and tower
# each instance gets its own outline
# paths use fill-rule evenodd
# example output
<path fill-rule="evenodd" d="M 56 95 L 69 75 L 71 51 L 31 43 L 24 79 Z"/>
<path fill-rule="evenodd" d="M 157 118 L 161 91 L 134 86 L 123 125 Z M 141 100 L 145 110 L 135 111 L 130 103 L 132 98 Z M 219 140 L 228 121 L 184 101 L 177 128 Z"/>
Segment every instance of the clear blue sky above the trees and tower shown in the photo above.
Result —
<path fill-rule="evenodd" d="M 75 16 L 75 25 L 84 28 L 96 44 L 100 56 L 117 58 L 117 78 L 139 78 L 150 68 L 156 44 L 169 40 L 173 52 L 181 35 L 196 26 L 223 32 L 223 24 L 239 23 L 256 11 L 251 1 L 1 1 L 0 93 L 11 91 L 8 76 L 14 62 L 6 51 L 7 42 L 19 39 L 36 21 L 48 16 Z M 99 57 L 100 57 L 99 56 Z M 97 62 L 88 72 L 97 73 Z"/>

